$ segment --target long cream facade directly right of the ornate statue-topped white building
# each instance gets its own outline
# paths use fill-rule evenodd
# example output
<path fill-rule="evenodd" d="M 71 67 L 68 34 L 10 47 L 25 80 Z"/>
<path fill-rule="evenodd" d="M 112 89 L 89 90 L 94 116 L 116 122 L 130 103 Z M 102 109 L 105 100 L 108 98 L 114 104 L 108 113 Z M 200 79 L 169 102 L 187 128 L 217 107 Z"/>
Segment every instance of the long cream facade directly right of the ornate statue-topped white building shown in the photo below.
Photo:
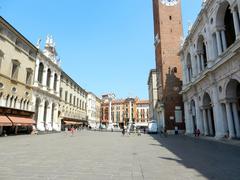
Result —
<path fill-rule="evenodd" d="M 59 118 L 62 130 L 69 126 L 86 126 L 87 92 L 72 80 L 64 71 L 61 72 Z"/>

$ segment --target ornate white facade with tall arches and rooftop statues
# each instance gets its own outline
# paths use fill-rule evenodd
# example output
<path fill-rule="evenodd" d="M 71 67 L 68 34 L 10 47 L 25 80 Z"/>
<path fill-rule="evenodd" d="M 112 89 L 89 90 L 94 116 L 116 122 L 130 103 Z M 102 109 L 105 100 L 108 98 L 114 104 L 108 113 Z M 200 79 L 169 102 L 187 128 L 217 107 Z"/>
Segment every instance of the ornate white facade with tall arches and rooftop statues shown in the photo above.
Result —
<path fill-rule="evenodd" d="M 58 117 L 60 78 L 55 42 L 48 36 L 43 52 L 38 49 L 33 86 L 34 117 L 40 131 L 61 130 Z"/>

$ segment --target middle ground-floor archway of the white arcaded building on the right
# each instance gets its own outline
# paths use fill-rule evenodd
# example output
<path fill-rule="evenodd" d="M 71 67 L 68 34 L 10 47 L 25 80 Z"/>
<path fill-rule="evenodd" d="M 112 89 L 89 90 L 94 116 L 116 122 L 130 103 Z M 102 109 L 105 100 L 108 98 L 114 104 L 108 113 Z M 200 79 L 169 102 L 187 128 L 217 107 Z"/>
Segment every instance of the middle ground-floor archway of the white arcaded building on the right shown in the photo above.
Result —
<path fill-rule="evenodd" d="M 206 135 L 215 136 L 215 121 L 213 116 L 212 101 L 208 93 L 203 96 L 203 119 Z"/>

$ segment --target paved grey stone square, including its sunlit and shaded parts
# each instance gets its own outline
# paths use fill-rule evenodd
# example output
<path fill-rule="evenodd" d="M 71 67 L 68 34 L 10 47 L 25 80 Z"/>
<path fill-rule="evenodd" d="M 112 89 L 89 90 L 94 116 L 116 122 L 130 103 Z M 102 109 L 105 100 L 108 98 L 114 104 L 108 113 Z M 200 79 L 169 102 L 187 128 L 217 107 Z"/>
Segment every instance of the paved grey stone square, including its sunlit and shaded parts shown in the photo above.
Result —
<path fill-rule="evenodd" d="M 81 131 L 0 138 L 0 164 L 1 180 L 239 180 L 240 147 Z"/>

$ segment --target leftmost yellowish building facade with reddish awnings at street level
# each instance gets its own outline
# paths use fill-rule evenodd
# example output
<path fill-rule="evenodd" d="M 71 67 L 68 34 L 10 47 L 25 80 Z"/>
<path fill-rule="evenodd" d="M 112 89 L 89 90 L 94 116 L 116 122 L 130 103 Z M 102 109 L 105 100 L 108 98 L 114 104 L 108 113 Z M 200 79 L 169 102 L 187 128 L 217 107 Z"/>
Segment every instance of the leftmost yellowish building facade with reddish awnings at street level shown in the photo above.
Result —
<path fill-rule="evenodd" d="M 0 135 L 29 127 L 37 48 L 0 17 Z"/>

